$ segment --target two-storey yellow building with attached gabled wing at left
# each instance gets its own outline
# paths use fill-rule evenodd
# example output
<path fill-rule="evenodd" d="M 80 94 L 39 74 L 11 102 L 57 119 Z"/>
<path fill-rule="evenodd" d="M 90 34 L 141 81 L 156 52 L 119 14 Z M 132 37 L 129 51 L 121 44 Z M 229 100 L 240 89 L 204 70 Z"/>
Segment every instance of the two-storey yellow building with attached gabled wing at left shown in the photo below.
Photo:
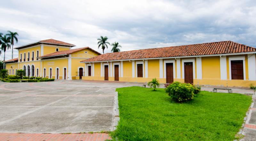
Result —
<path fill-rule="evenodd" d="M 80 61 L 100 53 L 90 47 L 71 49 L 75 45 L 48 39 L 16 47 L 18 58 L 7 60 L 8 74 L 15 74 L 17 69 L 24 69 L 26 76 L 47 77 L 54 79 L 81 79 L 84 67 Z"/>

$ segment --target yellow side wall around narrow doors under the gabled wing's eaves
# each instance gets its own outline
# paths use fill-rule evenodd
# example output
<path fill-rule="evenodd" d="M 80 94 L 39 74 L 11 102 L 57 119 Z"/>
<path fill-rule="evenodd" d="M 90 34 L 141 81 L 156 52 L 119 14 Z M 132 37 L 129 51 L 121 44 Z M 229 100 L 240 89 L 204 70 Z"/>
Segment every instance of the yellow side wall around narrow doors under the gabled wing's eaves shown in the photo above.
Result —
<path fill-rule="evenodd" d="M 58 60 L 44 60 L 42 61 L 42 75 L 44 68 L 46 68 L 46 77 L 49 77 L 50 68 L 52 68 L 52 78 L 56 76 L 56 68 L 59 68 L 59 79 L 63 79 L 64 68 L 67 68 L 66 76 L 68 76 L 68 59 L 58 59 Z"/>

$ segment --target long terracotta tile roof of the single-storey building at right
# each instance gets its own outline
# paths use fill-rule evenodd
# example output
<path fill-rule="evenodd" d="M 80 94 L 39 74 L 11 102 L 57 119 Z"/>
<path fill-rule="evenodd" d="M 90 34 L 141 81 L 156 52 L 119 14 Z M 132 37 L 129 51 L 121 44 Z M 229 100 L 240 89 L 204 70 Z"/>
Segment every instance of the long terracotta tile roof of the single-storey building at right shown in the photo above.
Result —
<path fill-rule="evenodd" d="M 256 49 L 254 47 L 246 46 L 232 41 L 221 41 L 194 45 L 170 46 L 117 53 L 106 53 L 81 62 L 181 57 L 245 52 L 256 52 Z"/>

